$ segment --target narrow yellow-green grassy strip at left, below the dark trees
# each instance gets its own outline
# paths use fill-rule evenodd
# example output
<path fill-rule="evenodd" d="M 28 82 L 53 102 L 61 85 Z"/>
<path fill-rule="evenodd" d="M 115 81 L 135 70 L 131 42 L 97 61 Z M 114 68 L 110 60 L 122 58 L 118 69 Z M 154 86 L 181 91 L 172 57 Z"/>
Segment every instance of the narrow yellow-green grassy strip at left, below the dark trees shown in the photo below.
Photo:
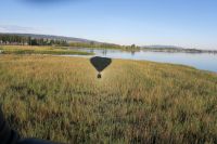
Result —
<path fill-rule="evenodd" d="M 53 55 L 92 55 L 93 53 L 67 50 L 56 47 L 30 47 L 30 45 L 0 45 L 2 54 L 53 54 Z"/>

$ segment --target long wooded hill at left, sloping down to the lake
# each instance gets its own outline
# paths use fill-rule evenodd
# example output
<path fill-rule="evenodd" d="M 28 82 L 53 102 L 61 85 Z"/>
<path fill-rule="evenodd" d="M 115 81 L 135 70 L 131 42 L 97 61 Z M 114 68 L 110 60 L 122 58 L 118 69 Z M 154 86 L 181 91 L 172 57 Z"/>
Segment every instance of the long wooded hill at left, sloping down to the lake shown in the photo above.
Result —
<path fill-rule="evenodd" d="M 30 45 L 64 45 L 64 47 L 76 47 L 76 48 L 98 48 L 98 49 L 122 49 L 122 50 L 136 50 L 129 45 L 119 45 L 115 43 L 99 42 L 94 40 L 64 37 L 64 36 L 53 36 L 53 35 L 37 35 L 37 34 L 16 34 L 16 32 L 0 32 L 2 35 L 2 40 L 0 39 L 0 44 L 25 44 L 30 43 Z M 15 38 L 17 36 L 21 38 Z M 24 38 L 23 38 L 24 37 Z M 30 37 L 31 41 L 29 42 L 28 38 Z M 1 37 L 0 37 L 1 38 Z M 21 40 L 22 39 L 22 40 Z M 42 39 L 42 40 L 41 40 Z M 51 40 L 52 43 L 51 43 Z M 138 49 L 138 48 L 137 48 Z"/>

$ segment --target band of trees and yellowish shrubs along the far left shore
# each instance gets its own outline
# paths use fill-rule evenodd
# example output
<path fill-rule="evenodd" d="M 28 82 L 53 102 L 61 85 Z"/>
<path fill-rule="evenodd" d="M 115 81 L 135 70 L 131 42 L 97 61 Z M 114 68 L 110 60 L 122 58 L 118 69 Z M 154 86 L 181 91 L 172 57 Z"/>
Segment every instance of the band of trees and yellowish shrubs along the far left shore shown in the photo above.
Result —
<path fill-rule="evenodd" d="M 34 35 L 33 35 L 34 36 Z M 65 38 L 66 39 L 66 38 Z M 84 42 L 69 42 L 67 40 L 42 38 L 38 36 L 38 38 L 30 37 L 30 35 L 18 36 L 18 35 L 9 35 L 9 34 L 0 34 L 0 44 L 2 45 L 59 45 L 59 47 L 76 47 L 76 48 L 94 48 L 94 49 L 118 49 L 125 51 L 139 51 L 140 48 L 132 45 L 118 45 L 111 43 L 102 43 L 94 41 L 84 41 Z"/>

